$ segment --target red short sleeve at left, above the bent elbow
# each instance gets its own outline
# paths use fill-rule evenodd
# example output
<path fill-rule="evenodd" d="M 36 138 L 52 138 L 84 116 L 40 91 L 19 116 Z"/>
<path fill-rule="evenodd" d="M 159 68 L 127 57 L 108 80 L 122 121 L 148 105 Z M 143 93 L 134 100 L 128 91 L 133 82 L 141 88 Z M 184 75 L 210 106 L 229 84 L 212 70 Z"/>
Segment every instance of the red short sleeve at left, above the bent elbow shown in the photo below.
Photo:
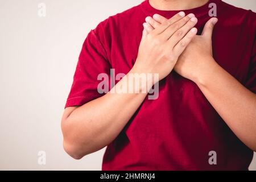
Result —
<path fill-rule="evenodd" d="M 101 73 L 110 77 L 110 64 L 100 39 L 92 30 L 82 45 L 73 84 L 65 107 L 81 106 L 102 96 L 97 88 Z"/>

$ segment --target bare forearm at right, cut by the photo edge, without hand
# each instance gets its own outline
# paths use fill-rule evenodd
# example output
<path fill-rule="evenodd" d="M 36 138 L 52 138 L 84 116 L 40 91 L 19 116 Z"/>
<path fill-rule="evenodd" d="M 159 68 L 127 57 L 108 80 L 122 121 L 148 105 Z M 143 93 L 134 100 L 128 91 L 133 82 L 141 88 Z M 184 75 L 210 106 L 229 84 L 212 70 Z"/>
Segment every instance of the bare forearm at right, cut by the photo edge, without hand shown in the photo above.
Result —
<path fill-rule="evenodd" d="M 213 62 L 195 82 L 237 137 L 256 151 L 256 95 Z"/>

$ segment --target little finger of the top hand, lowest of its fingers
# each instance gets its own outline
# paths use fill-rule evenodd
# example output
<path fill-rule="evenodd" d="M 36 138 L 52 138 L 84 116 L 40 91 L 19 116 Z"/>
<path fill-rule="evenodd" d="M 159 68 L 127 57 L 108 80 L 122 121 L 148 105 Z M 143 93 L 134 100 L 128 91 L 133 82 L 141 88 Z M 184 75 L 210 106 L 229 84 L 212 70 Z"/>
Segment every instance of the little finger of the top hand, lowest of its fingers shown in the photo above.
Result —
<path fill-rule="evenodd" d="M 188 44 L 191 42 L 193 37 L 196 35 L 197 29 L 194 27 L 192 28 L 187 35 L 184 36 L 183 39 L 180 40 L 179 43 L 176 44 L 173 51 L 177 56 L 180 56 L 181 53 L 185 50 L 185 48 L 188 46 Z"/>

